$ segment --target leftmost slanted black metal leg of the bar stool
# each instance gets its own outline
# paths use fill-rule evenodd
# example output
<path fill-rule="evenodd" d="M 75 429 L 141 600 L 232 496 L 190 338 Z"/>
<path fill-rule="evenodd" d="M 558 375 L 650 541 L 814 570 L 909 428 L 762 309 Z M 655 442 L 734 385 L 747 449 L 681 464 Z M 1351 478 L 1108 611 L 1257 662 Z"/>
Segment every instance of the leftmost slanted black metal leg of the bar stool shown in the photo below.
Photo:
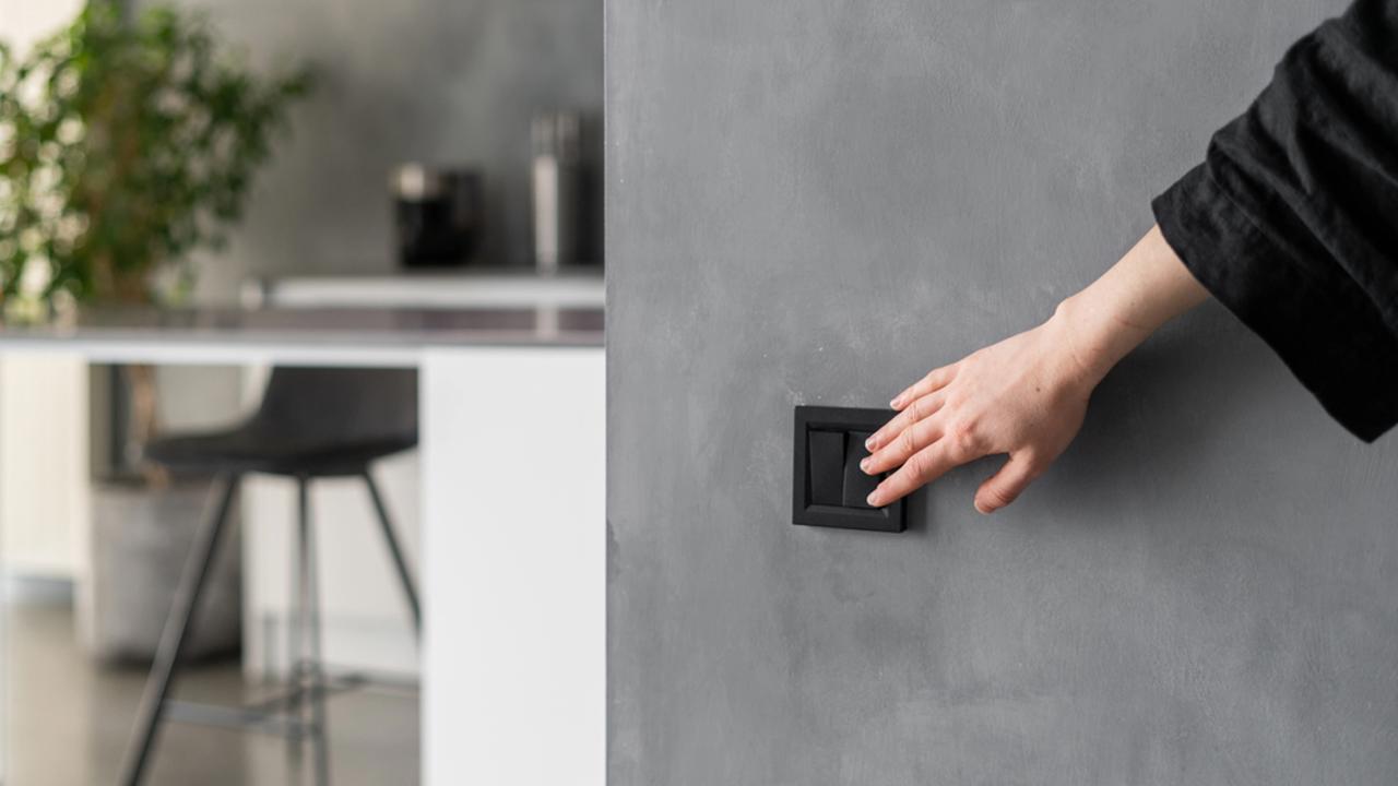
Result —
<path fill-rule="evenodd" d="M 214 554 L 218 551 L 218 537 L 224 531 L 224 523 L 228 519 L 239 480 L 240 477 L 236 474 L 218 478 L 218 483 L 222 483 L 222 494 L 218 496 L 212 516 L 200 524 L 189 558 L 185 561 L 185 573 L 175 590 L 171 613 L 165 621 L 165 629 L 161 632 L 161 643 L 155 650 L 155 662 L 151 664 L 151 676 L 145 683 L 145 694 L 141 696 L 141 706 L 136 716 L 136 736 L 122 768 L 120 783 L 126 786 L 140 785 L 145 765 L 155 748 L 155 737 L 165 713 L 165 699 L 175 684 L 175 670 L 193 629 L 199 599 L 204 592 L 204 582 L 208 578 Z M 215 488 L 218 488 L 217 483 Z"/>

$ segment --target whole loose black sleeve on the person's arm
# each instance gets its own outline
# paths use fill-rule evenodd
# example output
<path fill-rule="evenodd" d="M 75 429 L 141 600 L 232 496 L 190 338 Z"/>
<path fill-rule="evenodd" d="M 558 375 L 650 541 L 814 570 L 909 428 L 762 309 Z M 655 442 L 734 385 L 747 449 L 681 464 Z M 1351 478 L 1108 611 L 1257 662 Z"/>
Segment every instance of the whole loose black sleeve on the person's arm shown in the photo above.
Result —
<path fill-rule="evenodd" d="M 1345 428 L 1398 422 L 1398 0 L 1286 53 L 1155 199 L 1170 248 Z"/>

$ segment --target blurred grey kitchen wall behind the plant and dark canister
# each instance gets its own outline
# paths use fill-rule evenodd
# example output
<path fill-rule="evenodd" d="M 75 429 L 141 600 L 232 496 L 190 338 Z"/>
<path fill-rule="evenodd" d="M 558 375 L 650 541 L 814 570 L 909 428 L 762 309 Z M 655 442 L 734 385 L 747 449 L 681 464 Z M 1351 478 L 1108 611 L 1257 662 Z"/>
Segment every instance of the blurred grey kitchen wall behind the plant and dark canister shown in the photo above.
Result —
<path fill-rule="evenodd" d="M 207 10 L 254 63 L 309 60 L 320 74 L 232 248 L 206 256 L 206 296 L 231 296 L 247 274 L 394 270 L 387 178 L 403 161 L 480 166 L 484 259 L 526 263 L 528 123 L 541 108 L 591 117 L 600 169 L 601 0 L 179 1 Z"/>

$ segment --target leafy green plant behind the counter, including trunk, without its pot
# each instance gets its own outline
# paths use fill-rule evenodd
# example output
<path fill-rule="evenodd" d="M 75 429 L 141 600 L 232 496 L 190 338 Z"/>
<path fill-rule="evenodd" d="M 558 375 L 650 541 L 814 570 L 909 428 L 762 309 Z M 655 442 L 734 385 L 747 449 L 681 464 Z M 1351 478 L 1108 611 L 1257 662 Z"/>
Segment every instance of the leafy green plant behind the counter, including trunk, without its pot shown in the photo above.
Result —
<path fill-rule="evenodd" d="M 206 17 L 165 6 L 129 18 L 94 0 L 22 56 L 0 45 L 4 319 L 185 301 L 192 252 L 222 246 L 309 87 L 303 67 L 253 73 Z M 126 366 L 122 379 L 129 407 L 113 427 L 136 459 L 155 432 L 154 369 Z M 129 469 L 144 487 L 162 483 L 138 462 Z M 165 517 L 154 505 L 131 515 Z"/>

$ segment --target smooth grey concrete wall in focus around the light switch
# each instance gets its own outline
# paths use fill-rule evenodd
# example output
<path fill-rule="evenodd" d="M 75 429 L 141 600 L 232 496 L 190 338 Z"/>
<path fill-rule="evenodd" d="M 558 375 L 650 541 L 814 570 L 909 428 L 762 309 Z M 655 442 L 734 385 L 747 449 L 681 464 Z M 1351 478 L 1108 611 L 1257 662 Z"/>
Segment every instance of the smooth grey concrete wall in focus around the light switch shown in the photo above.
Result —
<path fill-rule="evenodd" d="M 614 786 L 1398 780 L 1398 452 L 1209 305 L 1016 505 L 790 526 L 877 406 L 1149 225 L 1327 0 L 610 0 Z"/>

